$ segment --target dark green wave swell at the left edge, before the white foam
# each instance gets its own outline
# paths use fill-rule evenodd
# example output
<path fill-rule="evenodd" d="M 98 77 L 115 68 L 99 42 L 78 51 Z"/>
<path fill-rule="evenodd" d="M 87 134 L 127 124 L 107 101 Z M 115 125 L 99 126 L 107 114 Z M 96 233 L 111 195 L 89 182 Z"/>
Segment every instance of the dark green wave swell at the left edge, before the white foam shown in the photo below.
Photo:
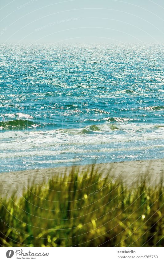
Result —
<path fill-rule="evenodd" d="M 0 122 L 0 130 L 24 130 L 27 128 L 39 127 L 39 124 L 27 119 L 16 119 Z"/>

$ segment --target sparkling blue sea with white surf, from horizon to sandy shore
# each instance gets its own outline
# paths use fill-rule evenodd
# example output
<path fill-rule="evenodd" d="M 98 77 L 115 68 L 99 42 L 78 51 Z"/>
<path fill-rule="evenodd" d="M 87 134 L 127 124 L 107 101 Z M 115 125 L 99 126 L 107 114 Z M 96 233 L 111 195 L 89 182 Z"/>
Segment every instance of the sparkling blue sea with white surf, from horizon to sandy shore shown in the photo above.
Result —
<path fill-rule="evenodd" d="M 0 171 L 164 157 L 163 44 L 0 47 Z"/>

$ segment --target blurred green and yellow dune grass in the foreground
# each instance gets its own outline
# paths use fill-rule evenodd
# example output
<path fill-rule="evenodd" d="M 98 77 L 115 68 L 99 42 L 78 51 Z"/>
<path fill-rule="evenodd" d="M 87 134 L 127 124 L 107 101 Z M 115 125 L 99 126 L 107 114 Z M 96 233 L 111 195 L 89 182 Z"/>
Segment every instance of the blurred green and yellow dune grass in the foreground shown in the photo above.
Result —
<path fill-rule="evenodd" d="M 163 198 L 162 183 L 154 188 L 143 180 L 130 188 L 114 174 L 102 178 L 94 170 L 73 170 L 44 187 L 33 185 L 22 197 L 1 200 L 0 244 L 160 247 Z"/>

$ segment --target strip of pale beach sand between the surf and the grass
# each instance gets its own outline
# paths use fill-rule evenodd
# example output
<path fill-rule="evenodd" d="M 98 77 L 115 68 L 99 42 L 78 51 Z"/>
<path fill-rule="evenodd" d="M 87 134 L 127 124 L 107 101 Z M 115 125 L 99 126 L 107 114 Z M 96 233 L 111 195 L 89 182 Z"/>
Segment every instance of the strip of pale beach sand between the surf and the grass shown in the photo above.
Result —
<path fill-rule="evenodd" d="M 90 172 L 92 168 L 94 168 L 94 173 L 101 173 L 103 177 L 120 177 L 127 186 L 136 187 L 144 178 L 149 185 L 156 186 L 164 177 L 163 166 L 164 159 L 156 159 L 0 173 L 0 198 L 10 197 L 14 192 L 21 196 L 23 190 L 29 188 L 30 185 L 44 185 L 44 182 L 46 183 L 49 179 L 62 178 L 68 173 L 74 173 L 75 170 Z"/>

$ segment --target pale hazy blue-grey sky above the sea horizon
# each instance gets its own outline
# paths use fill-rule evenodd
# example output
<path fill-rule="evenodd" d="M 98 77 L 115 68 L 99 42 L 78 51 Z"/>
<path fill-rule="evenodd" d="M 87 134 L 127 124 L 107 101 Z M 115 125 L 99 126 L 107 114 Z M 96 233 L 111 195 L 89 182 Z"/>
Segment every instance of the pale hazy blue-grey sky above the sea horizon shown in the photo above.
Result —
<path fill-rule="evenodd" d="M 1 0 L 0 43 L 164 42 L 163 0 Z"/>

